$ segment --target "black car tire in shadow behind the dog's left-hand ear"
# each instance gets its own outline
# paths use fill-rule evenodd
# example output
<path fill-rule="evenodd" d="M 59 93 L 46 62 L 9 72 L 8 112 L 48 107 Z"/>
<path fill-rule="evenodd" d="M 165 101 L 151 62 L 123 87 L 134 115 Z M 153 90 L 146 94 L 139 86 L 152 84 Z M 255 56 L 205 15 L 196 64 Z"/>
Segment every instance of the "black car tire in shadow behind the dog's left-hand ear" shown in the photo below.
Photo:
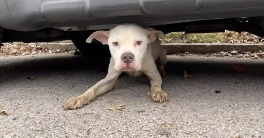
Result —
<path fill-rule="evenodd" d="M 81 52 L 81 55 L 92 57 L 110 57 L 108 45 L 103 45 L 99 41 L 92 43 L 86 42 L 87 36 L 78 36 L 71 39 L 75 47 Z"/>

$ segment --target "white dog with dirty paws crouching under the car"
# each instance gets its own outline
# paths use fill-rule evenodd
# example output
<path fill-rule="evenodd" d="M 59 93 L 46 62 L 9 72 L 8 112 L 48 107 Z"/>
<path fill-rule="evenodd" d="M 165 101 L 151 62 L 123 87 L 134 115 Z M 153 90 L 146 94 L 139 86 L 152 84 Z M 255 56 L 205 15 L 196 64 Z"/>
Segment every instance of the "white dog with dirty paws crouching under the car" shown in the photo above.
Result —
<path fill-rule="evenodd" d="M 112 90 L 114 83 L 122 72 L 131 77 L 144 74 L 149 78 L 151 88 L 148 96 L 154 102 L 165 102 L 167 94 L 162 91 L 163 65 L 167 62 L 166 50 L 161 47 L 159 38 L 164 33 L 152 28 L 143 29 L 136 24 L 121 24 L 108 31 L 96 31 L 87 39 L 93 39 L 109 45 L 111 59 L 104 79 L 90 87 L 82 95 L 66 101 L 64 109 L 77 109 L 89 103 L 95 97 Z"/>

